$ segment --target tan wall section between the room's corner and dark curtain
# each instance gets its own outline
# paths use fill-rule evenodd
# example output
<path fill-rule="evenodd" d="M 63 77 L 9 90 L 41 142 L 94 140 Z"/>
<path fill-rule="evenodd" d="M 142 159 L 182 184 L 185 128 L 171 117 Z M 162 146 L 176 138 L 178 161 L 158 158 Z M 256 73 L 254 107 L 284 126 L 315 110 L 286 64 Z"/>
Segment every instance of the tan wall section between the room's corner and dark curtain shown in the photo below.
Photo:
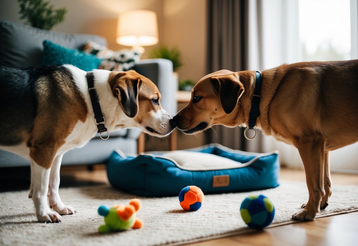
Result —
<path fill-rule="evenodd" d="M 205 75 L 206 0 L 164 0 L 163 44 L 177 46 L 183 66 L 179 79 L 197 82 Z"/>

